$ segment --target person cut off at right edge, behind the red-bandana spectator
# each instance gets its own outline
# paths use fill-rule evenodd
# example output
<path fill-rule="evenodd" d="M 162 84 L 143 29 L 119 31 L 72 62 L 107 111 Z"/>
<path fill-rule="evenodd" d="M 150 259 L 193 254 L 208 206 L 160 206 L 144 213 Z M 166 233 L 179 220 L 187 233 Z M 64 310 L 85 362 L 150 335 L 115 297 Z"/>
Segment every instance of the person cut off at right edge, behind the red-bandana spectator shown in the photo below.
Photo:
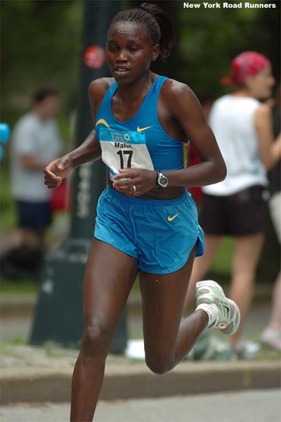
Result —
<path fill-rule="evenodd" d="M 280 85 L 277 88 L 276 103 L 273 108 L 273 132 L 280 134 Z M 269 200 L 270 217 L 275 228 L 279 243 L 281 243 L 281 161 L 268 172 L 271 197 Z M 281 350 L 281 272 L 279 271 L 273 289 L 272 309 L 268 325 L 261 334 L 262 343 Z"/>

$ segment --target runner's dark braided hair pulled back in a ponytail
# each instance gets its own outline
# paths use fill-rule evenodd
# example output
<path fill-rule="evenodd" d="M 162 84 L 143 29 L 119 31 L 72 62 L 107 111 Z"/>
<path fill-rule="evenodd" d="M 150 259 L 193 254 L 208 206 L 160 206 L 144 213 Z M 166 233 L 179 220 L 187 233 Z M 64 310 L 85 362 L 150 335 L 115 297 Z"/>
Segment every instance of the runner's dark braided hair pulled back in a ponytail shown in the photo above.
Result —
<path fill-rule="evenodd" d="M 157 4 L 143 3 L 141 6 L 119 12 L 111 25 L 122 21 L 143 23 L 148 28 L 152 46 L 159 44 L 159 57 L 166 59 L 170 56 L 176 41 L 174 27 Z"/>

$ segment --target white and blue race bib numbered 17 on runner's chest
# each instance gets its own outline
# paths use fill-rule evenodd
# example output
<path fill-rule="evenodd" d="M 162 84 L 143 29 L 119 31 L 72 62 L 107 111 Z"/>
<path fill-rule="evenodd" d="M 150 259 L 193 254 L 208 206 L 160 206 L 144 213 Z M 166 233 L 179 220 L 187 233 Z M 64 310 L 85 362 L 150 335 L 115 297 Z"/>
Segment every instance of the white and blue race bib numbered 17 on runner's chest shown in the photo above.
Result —
<path fill-rule="evenodd" d="M 119 169 L 154 170 L 143 132 L 123 132 L 102 127 L 100 147 L 111 180 Z"/>

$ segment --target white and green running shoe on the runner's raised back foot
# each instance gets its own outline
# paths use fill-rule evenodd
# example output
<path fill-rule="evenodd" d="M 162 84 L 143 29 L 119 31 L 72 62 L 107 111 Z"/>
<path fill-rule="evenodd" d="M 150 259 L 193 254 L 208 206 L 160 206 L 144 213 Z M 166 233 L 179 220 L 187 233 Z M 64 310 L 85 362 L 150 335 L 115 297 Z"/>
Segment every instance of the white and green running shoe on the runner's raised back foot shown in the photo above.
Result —
<path fill-rule="evenodd" d="M 240 310 L 233 300 L 226 298 L 221 286 L 212 280 L 196 284 L 196 309 L 203 309 L 209 316 L 208 328 L 232 335 L 240 324 Z"/>

